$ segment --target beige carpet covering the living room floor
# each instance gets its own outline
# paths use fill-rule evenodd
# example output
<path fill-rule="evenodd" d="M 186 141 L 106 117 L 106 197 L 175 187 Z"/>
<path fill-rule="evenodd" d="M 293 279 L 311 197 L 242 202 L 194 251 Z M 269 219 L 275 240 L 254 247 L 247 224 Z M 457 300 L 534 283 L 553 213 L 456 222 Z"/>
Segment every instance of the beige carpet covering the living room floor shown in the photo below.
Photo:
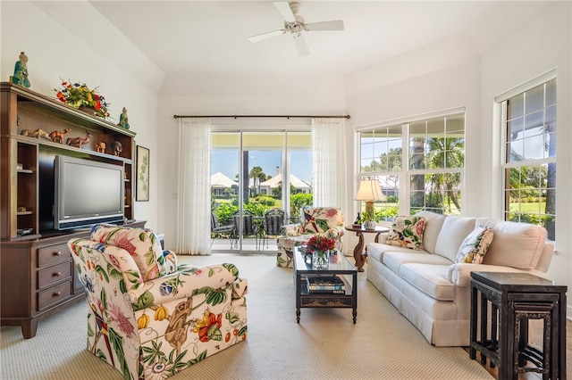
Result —
<path fill-rule="evenodd" d="M 436 348 L 359 274 L 357 324 L 349 309 L 302 309 L 296 323 L 292 270 L 275 256 L 180 256 L 202 265 L 229 261 L 248 278 L 248 339 L 183 370 L 182 379 L 491 379 L 458 347 Z M 85 350 L 88 307 L 80 302 L 38 324 L 0 329 L 2 379 L 117 379 Z"/>

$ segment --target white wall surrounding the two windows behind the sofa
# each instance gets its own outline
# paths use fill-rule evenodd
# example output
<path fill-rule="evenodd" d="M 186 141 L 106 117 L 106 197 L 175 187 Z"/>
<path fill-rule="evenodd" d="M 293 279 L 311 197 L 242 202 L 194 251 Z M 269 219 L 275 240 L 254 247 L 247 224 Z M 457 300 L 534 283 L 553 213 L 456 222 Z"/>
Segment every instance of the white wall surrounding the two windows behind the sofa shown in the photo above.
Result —
<path fill-rule="evenodd" d="M 501 218 L 501 131 L 498 126 L 495 128 L 493 99 L 557 69 L 557 252 L 548 276 L 568 285 L 568 289 L 572 289 L 572 201 L 568 191 L 572 187 L 571 24 L 571 3 L 552 3 L 493 44 L 476 47 L 469 35 L 461 34 L 345 78 L 348 112 L 354 127 L 467 107 L 463 213 Z M 439 57 L 444 59 L 440 61 Z M 425 62 L 430 62 L 430 70 Z M 357 172 L 357 168 L 353 169 Z M 568 298 L 568 316 L 572 316 L 571 305 Z"/>

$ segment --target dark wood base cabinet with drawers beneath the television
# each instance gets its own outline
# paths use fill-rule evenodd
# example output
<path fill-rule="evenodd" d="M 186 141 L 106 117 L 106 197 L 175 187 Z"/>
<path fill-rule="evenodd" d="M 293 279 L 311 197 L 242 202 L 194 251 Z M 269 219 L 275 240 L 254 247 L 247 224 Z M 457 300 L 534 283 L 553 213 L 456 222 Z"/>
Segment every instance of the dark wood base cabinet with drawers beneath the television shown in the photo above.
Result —
<path fill-rule="evenodd" d="M 132 221 L 126 227 L 145 227 Z M 88 237 L 89 229 L 53 231 L 0 242 L 0 325 L 21 326 L 24 338 L 36 335 L 38 321 L 64 310 L 83 297 L 83 285 L 67 243 Z"/>

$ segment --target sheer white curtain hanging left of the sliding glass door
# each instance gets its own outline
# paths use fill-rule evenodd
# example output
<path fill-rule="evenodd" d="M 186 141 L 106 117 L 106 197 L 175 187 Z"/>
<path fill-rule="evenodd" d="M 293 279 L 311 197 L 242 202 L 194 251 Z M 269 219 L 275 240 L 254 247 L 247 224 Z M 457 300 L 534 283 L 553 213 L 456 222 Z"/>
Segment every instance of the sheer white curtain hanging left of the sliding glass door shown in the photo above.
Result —
<path fill-rule="evenodd" d="M 181 118 L 177 254 L 210 254 L 211 122 Z"/>

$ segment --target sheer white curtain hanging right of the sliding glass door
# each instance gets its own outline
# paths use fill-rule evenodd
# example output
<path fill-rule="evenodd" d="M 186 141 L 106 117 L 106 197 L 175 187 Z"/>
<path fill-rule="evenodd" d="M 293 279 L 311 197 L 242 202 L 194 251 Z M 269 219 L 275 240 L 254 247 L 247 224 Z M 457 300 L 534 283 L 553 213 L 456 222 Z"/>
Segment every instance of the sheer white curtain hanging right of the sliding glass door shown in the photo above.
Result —
<path fill-rule="evenodd" d="M 338 207 L 348 214 L 346 130 L 344 119 L 312 120 L 314 205 Z"/>

